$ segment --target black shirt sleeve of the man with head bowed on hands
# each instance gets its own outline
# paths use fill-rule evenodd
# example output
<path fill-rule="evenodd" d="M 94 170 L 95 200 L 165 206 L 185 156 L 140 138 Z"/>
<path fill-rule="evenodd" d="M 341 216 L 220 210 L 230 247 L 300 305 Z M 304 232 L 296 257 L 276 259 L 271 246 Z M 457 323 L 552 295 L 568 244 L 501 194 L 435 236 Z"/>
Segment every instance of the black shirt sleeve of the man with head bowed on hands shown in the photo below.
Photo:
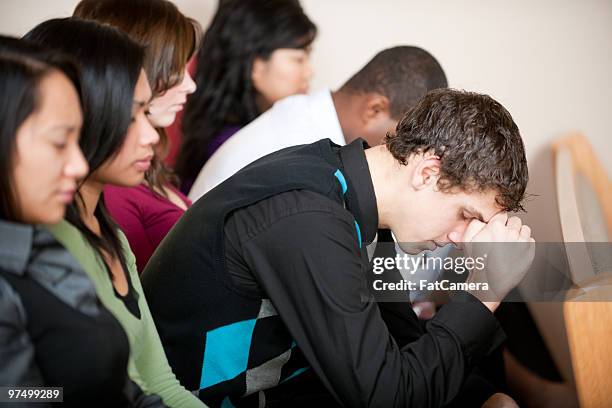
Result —
<path fill-rule="evenodd" d="M 309 211 L 281 218 L 242 246 L 243 256 L 322 382 L 345 406 L 438 407 L 503 333 L 467 293 L 418 340 L 399 348 L 375 303 L 353 221 Z"/>

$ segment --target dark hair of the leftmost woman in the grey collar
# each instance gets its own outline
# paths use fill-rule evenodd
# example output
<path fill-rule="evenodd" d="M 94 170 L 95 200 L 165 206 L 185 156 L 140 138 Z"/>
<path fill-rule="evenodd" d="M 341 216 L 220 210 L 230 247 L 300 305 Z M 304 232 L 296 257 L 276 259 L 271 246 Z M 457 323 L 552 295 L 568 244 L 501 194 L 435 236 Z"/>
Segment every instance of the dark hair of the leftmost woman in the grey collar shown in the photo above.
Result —
<path fill-rule="evenodd" d="M 0 35 L 0 219 L 21 218 L 19 197 L 11 182 L 17 131 L 39 109 L 40 82 L 51 72 L 68 78 L 81 97 L 77 66 L 59 53 Z"/>

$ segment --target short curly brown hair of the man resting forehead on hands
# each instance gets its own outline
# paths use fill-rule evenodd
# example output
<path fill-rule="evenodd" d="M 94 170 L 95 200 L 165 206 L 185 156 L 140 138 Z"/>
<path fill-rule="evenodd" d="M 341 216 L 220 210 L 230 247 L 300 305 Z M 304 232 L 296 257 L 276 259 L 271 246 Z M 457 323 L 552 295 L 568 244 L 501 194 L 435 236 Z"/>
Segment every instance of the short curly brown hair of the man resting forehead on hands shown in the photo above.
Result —
<path fill-rule="evenodd" d="M 431 91 L 385 141 L 404 165 L 413 154 L 438 156 L 440 190 L 493 190 L 505 211 L 524 211 L 521 201 L 529 180 L 525 146 L 510 113 L 490 96 Z"/>

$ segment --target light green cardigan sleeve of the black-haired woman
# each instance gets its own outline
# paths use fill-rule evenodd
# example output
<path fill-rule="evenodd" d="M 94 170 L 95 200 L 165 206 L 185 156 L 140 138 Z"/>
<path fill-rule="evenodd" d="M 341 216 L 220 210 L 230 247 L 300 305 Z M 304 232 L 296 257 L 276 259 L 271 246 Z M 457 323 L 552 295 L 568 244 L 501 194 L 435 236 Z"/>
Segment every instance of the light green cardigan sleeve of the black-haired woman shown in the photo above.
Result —
<path fill-rule="evenodd" d="M 138 339 L 141 349 L 135 365 L 140 379 L 146 384 L 146 391 L 159 395 L 169 407 L 205 407 L 199 398 L 179 383 L 172 372 L 136 272 L 134 256 L 129 251 L 126 251 L 126 262 L 132 285 L 138 293 L 138 307 L 145 326 L 141 332 L 142 337 Z"/>

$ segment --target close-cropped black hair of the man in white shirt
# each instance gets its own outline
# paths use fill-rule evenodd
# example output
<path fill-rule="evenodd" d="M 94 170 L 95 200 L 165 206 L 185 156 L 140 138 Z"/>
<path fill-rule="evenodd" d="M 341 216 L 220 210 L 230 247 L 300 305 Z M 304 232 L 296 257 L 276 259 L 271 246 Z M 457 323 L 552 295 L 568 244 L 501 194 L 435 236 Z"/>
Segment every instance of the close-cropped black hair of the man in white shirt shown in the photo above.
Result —
<path fill-rule="evenodd" d="M 419 47 L 397 46 L 376 54 L 342 87 L 342 92 L 376 92 L 390 102 L 390 114 L 400 119 L 427 92 L 446 88 L 440 63 Z"/>

